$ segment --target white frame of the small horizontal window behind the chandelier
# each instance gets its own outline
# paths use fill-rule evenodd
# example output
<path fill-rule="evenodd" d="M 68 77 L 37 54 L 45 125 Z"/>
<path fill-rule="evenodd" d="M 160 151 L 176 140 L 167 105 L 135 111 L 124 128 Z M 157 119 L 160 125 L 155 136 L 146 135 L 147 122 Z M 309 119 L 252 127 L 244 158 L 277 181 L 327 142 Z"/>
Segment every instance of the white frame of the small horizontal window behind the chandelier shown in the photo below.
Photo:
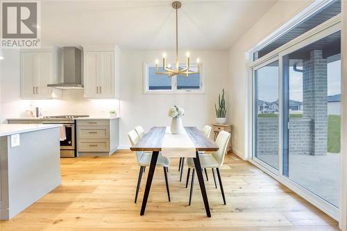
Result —
<path fill-rule="evenodd" d="M 180 64 L 183 67 L 185 64 Z M 192 63 L 191 65 L 197 65 Z M 204 65 L 200 64 L 200 88 L 177 89 L 177 76 L 171 77 L 171 89 L 149 89 L 149 67 L 155 67 L 153 63 L 144 63 L 144 94 L 205 94 L 205 71 Z M 168 77 L 169 78 L 169 77 Z M 188 77 L 189 78 L 189 77 Z"/>

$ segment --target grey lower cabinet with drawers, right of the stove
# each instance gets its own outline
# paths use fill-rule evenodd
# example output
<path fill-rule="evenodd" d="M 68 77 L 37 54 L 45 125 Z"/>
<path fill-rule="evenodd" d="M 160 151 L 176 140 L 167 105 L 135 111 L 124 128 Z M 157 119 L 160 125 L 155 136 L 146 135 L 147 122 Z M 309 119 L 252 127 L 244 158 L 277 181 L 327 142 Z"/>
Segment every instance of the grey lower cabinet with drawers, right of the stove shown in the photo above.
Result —
<path fill-rule="evenodd" d="M 78 119 L 78 155 L 111 155 L 119 145 L 119 119 Z"/>

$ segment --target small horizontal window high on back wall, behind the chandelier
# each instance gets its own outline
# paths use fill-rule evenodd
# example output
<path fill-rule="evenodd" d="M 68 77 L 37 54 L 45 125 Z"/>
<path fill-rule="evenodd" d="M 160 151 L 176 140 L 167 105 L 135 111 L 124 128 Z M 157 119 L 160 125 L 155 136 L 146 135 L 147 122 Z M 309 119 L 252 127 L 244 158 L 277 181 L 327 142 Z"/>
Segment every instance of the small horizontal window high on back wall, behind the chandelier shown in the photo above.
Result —
<path fill-rule="evenodd" d="M 181 65 L 181 67 L 185 67 Z M 197 71 L 196 64 L 191 64 L 190 70 Z M 162 67 L 159 71 L 163 71 Z M 200 65 L 200 74 L 186 76 L 173 76 L 155 74 L 155 65 L 144 65 L 144 93 L 146 94 L 202 94 L 203 65 Z"/>

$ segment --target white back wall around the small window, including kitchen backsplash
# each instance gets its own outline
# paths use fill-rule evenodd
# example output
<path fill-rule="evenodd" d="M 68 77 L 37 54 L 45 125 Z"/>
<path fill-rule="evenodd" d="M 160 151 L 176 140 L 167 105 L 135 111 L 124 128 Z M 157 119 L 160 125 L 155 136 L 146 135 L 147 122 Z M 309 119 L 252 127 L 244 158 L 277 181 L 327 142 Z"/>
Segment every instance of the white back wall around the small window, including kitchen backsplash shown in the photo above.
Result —
<path fill-rule="evenodd" d="M 19 51 L 4 51 L 6 56 L 1 70 L 1 123 L 9 117 L 21 117 L 31 106 L 42 107 L 44 115 L 90 114 L 108 115 L 110 110 L 119 111 L 120 105 L 120 146 L 130 144 L 127 132 L 137 125 L 148 130 L 152 126 L 169 126 L 167 110 L 172 105 L 185 108 L 185 126 L 202 128 L 206 123 L 214 123 L 214 103 L 223 87 L 227 87 L 228 51 L 190 51 L 199 57 L 205 71 L 205 94 L 143 94 L 143 63 L 154 62 L 162 51 L 122 51 L 120 100 L 85 100 L 83 90 L 65 89 L 61 100 L 21 100 L 19 98 Z M 184 53 L 182 53 L 184 55 Z M 167 52 L 168 58 L 174 57 Z M 184 60 L 181 57 L 180 60 Z M 172 61 L 172 60 L 169 60 Z M 228 95 L 228 92 L 226 92 Z"/>

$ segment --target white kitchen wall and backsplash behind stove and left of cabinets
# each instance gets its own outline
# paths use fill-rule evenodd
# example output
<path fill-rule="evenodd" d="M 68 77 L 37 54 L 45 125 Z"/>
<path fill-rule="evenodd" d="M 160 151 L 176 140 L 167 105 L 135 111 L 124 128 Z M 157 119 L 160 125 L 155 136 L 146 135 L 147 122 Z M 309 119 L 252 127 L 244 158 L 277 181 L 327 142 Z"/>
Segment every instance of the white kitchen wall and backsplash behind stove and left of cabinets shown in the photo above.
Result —
<path fill-rule="evenodd" d="M 64 89 L 62 99 L 54 100 L 21 100 L 19 51 L 4 49 L 5 59 L 1 65 L 1 113 L 0 123 L 6 123 L 9 117 L 26 116 L 25 110 L 41 107 L 46 115 L 57 114 L 90 114 L 91 116 L 108 116 L 110 110 L 119 111 L 118 100 L 86 100 L 83 89 Z"/>

